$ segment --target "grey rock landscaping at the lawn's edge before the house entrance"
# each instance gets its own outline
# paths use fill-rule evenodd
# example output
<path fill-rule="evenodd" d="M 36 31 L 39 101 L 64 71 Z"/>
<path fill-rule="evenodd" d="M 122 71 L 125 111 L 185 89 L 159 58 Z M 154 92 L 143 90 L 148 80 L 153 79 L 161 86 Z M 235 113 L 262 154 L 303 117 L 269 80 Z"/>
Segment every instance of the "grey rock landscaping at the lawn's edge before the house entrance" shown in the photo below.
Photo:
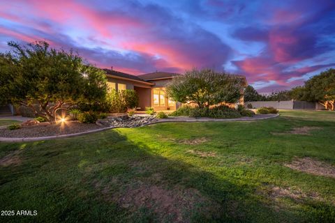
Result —
<path fill-rule="evenodd" d="M 154 123 L 158 121 L 156 116 L 117 116 L 108 117 L 105 119 L 99 119 L 96 121 L 97 125 L 101 127 L 125 127 L 125 128 L 135 128 L 149 123 Z"/>

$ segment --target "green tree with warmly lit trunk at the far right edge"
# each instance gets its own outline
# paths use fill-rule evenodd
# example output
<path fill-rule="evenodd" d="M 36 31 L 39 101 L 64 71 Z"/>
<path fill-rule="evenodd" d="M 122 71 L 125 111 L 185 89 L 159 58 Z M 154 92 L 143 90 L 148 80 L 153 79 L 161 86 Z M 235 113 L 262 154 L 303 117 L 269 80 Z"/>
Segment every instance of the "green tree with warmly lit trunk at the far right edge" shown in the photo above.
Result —
<path fill-rule="evenodd" d="M 326 109 L 334 111 L 335 103 L 335 69 L 321 72 L 305 82 L 303 99 L 316 101 Z"/>

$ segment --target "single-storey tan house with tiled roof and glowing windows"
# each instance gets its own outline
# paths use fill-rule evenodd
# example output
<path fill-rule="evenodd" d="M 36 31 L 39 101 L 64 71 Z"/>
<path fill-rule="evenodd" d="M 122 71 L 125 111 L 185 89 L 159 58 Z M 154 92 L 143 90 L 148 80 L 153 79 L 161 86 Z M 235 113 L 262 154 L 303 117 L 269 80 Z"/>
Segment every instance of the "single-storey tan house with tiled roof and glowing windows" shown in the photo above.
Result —
<path fill-rule="evenodd" d="M 107 84 L 110 89 L 117 91 L 133 89 L 139 97 L 139 107 L 154 107 L 155 111 L 176 110 L 181 103 L 174 102 L 165 93 L 165 86 L 179 74 L 171 72 L 151 72 L 144 75 L 129 75 L 117 70 L 103 69 L 107 75 Z M 247 86 L 246 77 L 239 75 Z M 239 100 L 244 104 L 244 97 Z"/>

